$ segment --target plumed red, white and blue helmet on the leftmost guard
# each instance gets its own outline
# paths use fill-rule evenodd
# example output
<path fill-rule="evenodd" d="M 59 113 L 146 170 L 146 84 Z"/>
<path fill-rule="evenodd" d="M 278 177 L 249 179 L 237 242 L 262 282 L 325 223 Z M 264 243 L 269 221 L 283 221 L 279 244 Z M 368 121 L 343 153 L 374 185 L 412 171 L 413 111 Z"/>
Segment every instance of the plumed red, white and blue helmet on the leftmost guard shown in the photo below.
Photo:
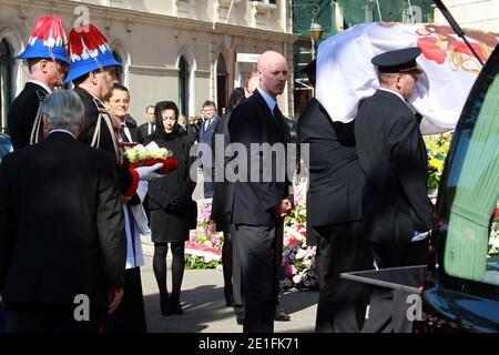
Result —
<path fill-rule="evenodd" d="M 65 51 L 67 38 L 60 18 L 42 16 L 37 20 L 26 50 L 18 59 L 45 58 L 70 63 Z"/>

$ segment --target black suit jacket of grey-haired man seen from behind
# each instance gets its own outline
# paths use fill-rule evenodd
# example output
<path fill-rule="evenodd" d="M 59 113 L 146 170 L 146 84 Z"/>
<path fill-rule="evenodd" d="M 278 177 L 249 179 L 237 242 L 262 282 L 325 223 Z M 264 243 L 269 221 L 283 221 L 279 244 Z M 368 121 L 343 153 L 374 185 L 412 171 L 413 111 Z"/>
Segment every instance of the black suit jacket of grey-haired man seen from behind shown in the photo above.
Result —
<path fill-rule="evenodd" d="M 7 302 L 73 303 L 124 284 L 114 156 L 55 132 L 0 165 L 0 290 Z"/>

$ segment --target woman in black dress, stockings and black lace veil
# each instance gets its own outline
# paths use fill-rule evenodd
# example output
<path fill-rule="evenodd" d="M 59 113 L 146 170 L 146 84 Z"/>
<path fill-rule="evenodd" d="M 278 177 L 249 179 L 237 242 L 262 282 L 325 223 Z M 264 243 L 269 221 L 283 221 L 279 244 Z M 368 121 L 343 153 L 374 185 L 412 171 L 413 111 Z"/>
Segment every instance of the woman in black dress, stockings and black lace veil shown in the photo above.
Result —
<path fill-rule="evenodd" d="M 179 109 L 173 101 L 161 101 L 154 108 L 159 124 L 146 138 L 160 148 L 173 152 L 177 169 L 149 184 L 149 209 L 151 210 L 151 231 L 154 242 L 153 270 L 160 288 L 161 314 L 182 314 L 180 292 L 184 276 L 184 247 L 190 229 L 195 227 L 195 202 L 192 193 L 195 183 L 190 179 L 193 163 L 189 152 L 192 141 L 177 126 Z M 194 211 L 193 211 L 194 206 Z M 193 225 L 194 224 L 194 225 Z M 172 251 L 172 293 L 166 287 L 166 254 Z"/>

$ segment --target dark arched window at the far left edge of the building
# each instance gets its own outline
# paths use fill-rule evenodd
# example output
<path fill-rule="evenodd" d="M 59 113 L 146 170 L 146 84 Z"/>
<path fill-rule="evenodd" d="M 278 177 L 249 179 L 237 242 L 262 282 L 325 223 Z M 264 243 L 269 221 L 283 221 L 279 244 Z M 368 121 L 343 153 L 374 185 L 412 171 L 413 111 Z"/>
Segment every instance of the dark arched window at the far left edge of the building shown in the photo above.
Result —
<path fill-rule="evenodd" d="M 12 47 L 2 39 L 0 41 L 0 129 L 2 132 L 7 130 L 7 116 L 12 102 L 12 65 L 14 63 L 12 52 Z"/>

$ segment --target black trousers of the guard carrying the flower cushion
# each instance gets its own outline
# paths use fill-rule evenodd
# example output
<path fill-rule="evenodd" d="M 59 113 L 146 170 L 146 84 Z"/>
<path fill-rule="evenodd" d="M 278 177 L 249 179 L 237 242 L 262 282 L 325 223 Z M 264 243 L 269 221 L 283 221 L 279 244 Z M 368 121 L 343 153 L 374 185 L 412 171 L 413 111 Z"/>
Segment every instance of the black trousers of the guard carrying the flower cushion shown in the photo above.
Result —
<path fill-rule="evenodd" d="M 123 297 L 118 308 L 104 321 L 105 333 L 146 333 L 141 268 L 125 271 Z"/>

